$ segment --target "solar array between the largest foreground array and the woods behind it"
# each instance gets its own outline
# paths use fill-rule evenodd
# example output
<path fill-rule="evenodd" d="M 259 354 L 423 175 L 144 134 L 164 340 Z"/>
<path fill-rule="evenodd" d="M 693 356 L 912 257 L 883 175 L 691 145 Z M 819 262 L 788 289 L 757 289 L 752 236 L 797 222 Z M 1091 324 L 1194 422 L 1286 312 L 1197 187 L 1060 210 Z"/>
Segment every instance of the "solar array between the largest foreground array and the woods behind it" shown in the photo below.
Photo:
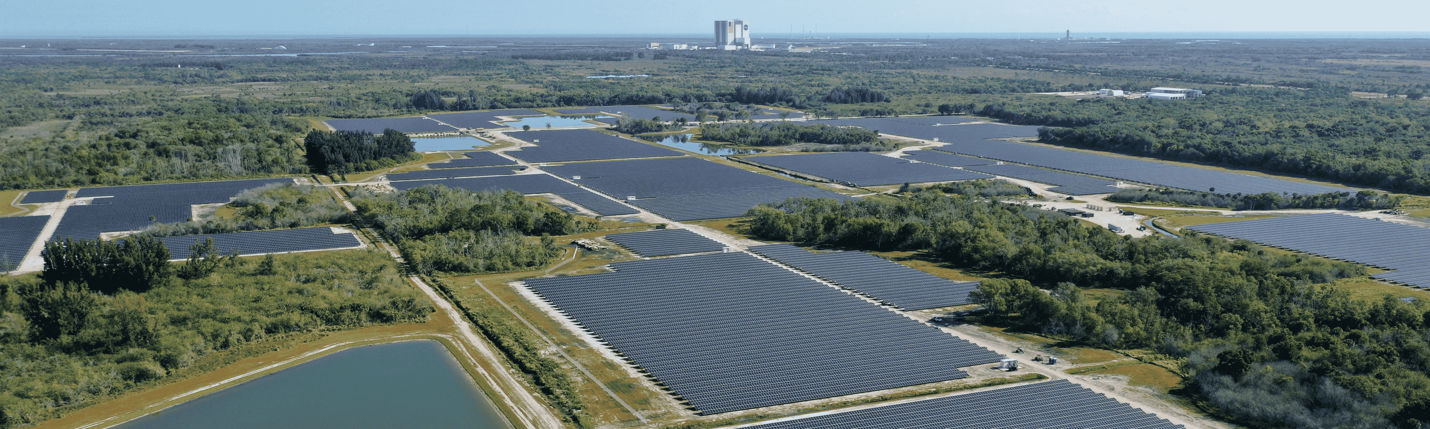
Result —
<path fill-rule="evenodd" d="M 978 289 L 980 285 L 980 282 L 948 280 L 864 252 L 814 253 L 791 245 L 754 246 L 749 252 L 905 310 L 970 303 L 968 292 Z"/>

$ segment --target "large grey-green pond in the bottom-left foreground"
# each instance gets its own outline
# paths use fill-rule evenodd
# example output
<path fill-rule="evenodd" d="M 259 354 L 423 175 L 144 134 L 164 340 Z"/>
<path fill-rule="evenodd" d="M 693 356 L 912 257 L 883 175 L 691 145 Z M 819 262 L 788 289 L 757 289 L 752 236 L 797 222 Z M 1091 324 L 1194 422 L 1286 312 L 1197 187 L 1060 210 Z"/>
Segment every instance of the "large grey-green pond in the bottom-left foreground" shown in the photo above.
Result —
<path fill-rule="evenodd" d="M 119 429 L 508 428 L 435 340 L 342 350 Z"/>

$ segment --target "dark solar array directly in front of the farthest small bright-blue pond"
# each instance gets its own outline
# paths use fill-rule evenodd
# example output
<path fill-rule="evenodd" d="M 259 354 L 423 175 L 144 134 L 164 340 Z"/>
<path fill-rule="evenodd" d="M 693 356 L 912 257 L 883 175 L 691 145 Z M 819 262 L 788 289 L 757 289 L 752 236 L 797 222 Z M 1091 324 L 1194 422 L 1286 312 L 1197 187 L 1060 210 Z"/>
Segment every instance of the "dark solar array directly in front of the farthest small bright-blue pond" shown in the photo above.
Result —
<path fill-rule="evenodd" d="M 519 132 L 508 136 L 536 144 L 506 154 L 532 163 L 682 156 L 685 153 L 596 130 Z M 539 142 L 538 142 L 539 140 Z"/>

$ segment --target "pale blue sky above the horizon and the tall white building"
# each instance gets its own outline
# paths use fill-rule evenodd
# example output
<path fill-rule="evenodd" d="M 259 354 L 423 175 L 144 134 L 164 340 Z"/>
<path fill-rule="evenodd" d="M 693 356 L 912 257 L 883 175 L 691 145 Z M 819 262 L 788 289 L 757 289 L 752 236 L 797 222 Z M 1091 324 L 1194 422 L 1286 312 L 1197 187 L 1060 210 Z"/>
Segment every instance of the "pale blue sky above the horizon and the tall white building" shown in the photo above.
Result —
<path fill-rule="evenodd" d="M 1266 0 L 0 0 L 0 37 L 665 34 L 745 19 L 821 33 L 1426 31 L 1430 1 Z"/>

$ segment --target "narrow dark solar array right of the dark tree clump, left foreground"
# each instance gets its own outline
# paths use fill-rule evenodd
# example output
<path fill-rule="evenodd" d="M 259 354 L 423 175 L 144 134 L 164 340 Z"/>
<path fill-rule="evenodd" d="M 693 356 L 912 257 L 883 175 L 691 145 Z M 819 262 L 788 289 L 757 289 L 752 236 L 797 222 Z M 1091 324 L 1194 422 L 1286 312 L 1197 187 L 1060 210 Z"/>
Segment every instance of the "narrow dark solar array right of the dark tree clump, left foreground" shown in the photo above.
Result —
<path fill-rule="evenodd" d="M 189 259 L 193 255 L 189 246 L 213 239 L 213 246 L 223 255 L 262 255 L 302 250 L 326 250 L 359 247 L 362 242 L 350 232 L 335 233 L 332 227 L 303 227 L 256 230 L 223 235 L 199 235 L 162 237 L 160 242 L 169 247 L 169 257 L 173 260 Z"/>

